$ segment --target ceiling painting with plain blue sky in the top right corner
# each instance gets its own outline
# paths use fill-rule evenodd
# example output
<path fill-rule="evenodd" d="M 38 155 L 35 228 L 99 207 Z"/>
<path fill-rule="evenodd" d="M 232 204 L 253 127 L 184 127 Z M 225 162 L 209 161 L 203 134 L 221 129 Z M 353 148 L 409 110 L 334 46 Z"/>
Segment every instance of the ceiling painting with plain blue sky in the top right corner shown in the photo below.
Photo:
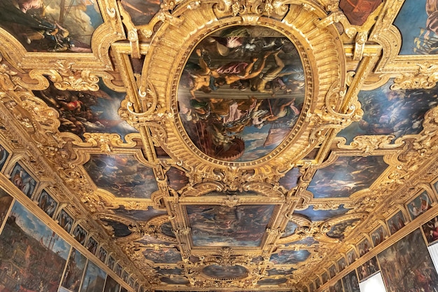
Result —
<path fill-rule="evenodd" d="M 402 33 L 400 55 L 435 55 L 438 53 L 437 12 L 435 0 L 407 0 L 394 20 Z"/>

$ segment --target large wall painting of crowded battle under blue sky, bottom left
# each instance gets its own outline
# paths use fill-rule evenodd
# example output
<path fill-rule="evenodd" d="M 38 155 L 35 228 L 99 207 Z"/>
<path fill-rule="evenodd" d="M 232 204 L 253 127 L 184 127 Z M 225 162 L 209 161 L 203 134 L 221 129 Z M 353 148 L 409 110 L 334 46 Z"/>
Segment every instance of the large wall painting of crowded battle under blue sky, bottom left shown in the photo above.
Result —
<path fill-rule="evenodd" d="M 57 291 L 70 247 L 15 202 L 0 235 L 0 291 Z"/>

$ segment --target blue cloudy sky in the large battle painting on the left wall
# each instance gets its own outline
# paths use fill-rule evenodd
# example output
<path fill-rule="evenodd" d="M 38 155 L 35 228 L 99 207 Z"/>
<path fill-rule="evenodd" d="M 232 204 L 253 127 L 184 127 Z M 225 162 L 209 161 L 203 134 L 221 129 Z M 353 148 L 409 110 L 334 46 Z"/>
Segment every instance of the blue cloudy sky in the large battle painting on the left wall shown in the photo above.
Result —
<path fill-rule="evenodd" d="M 15 202 L 10 216 L 15 216 L 15 223 L 27 233 L 27 235 L 34 237 L 34 239 L 40 241 L 43 239 L 45 246 L 48 244 L 50 238 L 52 238 L 53 231 L 48 228 L 40 219 L 36 218 L 34 214 L 31 214 L 20 202 Z M 55 236 L 55 242 L 52 239 L 53 248 L 52 251 L 59 253 L 59 256 L 66 260 L 69 256 L 70 244 L 66 243 L 64 239 L 59 236 Z"/>

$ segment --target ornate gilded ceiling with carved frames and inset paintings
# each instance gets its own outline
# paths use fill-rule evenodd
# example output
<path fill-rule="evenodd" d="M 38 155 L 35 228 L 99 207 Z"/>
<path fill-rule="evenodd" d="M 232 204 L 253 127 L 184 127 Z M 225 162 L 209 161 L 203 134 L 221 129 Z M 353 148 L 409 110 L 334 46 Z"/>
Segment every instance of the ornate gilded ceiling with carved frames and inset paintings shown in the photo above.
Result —
<path fill-rule="evenodd" d="M 135 290 L 323 291 L 437 202 L 437 10 L 1 1 L 3 174 Z"/>

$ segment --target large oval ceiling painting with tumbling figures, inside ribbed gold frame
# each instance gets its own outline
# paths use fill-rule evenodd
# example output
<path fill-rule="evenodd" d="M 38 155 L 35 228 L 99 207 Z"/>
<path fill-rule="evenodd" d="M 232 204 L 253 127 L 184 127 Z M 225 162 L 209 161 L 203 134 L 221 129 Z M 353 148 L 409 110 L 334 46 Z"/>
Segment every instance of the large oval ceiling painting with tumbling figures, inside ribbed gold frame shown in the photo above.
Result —
<path fill-rule="evenodd" d="M 295 45 L 274 29 L 237 26 L 213 32 L 192 51 L 179 81 L 185 131 L 212 158 L 262 158 L 297 123 L 304 76 Z"/>

